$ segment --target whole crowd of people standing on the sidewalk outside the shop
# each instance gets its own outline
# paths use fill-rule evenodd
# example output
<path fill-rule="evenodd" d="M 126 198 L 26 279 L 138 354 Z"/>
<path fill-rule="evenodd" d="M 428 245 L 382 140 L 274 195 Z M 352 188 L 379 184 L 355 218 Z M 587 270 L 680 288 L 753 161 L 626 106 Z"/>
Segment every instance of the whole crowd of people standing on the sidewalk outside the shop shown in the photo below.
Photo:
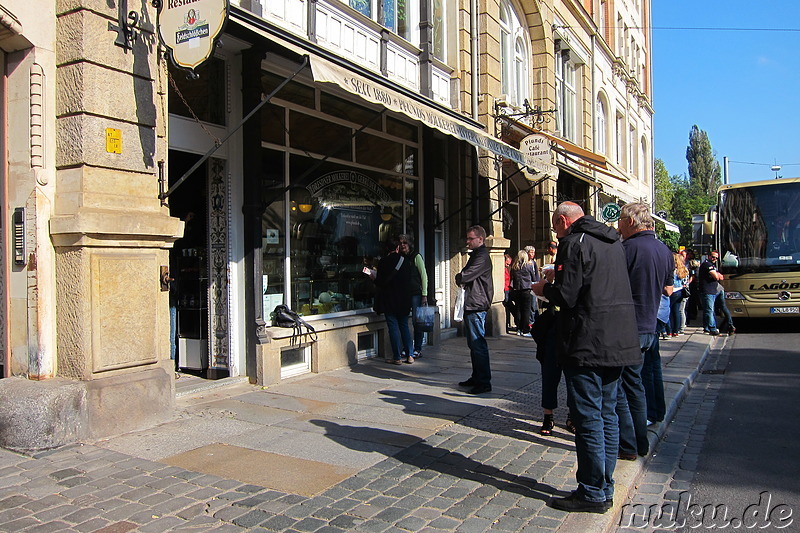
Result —
<path fill-rule="evenodd" d="M 552 217 L 558 240 L 548 243 L 541 269 L 533 246 L 505 254 L 506 329 L 536 342 L 542 435 L 555 428 L 562 375 L 566 384 L 565 427 L 575 434 L 578 486 L 569 496 L 550 501 L 564 511 L 608 511 L 617 460 L 649 453 L 647 427 L 666 416 L 659 341 L 683 334 L 701 314 L 710 335 L 720 334 L 718 312 L 724 316 L 724 331 L 736 331 L 725 306 L 716 251 L 702 262 L 690 250 L 670 251 L 656 237 L 644 203 L 624 205 L 617 225 L 563 202 Z M 459 386 L 469 394 L 492 390 L 485 331 L 493 281 L 485 240 L 481 226 L 467 230 L 470 257 L 455 276 L 463 290 L 472 363 L 470 377 Z M 390 240 L 375 278 L 376 310 L 386 315 L 392 344 L 390 362 L 412 363 L 421 355 L 422 337 L 412 337 L 408 314 L 427 304 L 424 270 L 409 236 Z"/>

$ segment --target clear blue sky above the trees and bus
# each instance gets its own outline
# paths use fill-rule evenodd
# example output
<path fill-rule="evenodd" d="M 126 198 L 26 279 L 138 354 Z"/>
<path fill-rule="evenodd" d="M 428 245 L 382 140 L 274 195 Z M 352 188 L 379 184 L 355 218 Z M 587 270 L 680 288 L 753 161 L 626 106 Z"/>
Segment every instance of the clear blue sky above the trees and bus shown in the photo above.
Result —
<path fill-rule="evenodd" d="M 800 176 L 800 2 L 652 0 L 652 9 L 654 154 L 669 174 L 688 175 L 696 124 L 720 165 L 728 157 L 731 183 L 774 178 L 775 162 L 778 175 Z"/>

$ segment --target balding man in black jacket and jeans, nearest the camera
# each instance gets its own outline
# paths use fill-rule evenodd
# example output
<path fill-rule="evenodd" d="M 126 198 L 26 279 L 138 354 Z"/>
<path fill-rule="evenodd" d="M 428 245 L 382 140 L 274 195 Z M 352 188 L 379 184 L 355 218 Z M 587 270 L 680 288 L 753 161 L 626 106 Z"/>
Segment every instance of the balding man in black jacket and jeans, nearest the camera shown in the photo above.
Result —
<path fill-rule="evenodd" d="M 573 202 L 556 208 L 553 230 L 554 272 L 533 291 L 560 307 L 558 358 L 576 427 L 578 488 L 550 505 L 604 513 L 612 506 L 619 449 L 617 384 L 623 366 L 641 361 L 625 251 L 615 229 Z"/>

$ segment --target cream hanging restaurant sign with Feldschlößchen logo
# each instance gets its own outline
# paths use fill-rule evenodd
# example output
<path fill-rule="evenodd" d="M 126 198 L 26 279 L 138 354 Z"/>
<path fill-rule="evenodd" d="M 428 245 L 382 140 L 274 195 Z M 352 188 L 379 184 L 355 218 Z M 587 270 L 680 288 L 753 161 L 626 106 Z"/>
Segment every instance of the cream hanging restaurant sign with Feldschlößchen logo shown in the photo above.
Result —
<path fill-rule="evenodd" d="M 175 65 L 194 70 L 214 52 L 228 20 L 228 0 L 162 0 L 158 37 Z"/>

